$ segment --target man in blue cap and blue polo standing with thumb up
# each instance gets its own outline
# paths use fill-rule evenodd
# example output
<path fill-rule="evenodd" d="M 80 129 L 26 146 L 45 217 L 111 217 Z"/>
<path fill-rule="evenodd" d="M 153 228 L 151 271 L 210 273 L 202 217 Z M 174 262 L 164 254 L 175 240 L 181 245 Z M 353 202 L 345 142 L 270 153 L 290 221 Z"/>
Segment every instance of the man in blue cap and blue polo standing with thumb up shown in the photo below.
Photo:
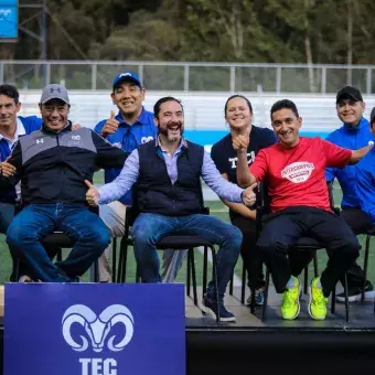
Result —
<path fill-rule="evenodd" d="M 113 82 L 110 97 L 118 108 L 118 114 L 111 111 L 108 119 L 99 121 L 95 127 L 96 132 L 129 154 L 139 144 L 156 139 L 157 128 L 153 114 L 142 106 L 144 88 L 137 74 L 125 72 L 117 75 Z M 114 181 L 120 172 L 121 169 L 106 169 L 105 183 Z M 127 205 L 131 205 L 130 191 L 118 201 L 99 207 L 100 217 L 111 231 L 113 237 L 124 235 Z M 103 282 L 109 282 L 111 279 L 108 255 L 109 248 L 99 259 L 99 277 Z"/>

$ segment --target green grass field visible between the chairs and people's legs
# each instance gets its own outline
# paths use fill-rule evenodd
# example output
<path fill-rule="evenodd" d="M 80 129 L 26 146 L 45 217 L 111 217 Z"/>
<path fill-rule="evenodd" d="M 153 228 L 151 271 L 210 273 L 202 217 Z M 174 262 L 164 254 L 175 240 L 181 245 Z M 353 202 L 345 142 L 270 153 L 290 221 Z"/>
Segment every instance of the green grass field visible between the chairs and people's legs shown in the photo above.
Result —
<path fill-rule="evenodd" d="M 103 172 L 96 173 L 94 182 L 96 185 L 99 185 L 103 183 Z M 339 203 L 341 202 L 340 188 L 335 185 L 333 192 L 334 192 L 334 202 L 336 203 L 336 205 L 339 205 Z M 221 201 L 206 202 L 206 206 L 210 207 L 211 214 L 213 216 L 216 216 L 225 222 L 229 222 L 228 210 Z M 361 258 L 358 259 L 358 262 L 360 265 L 363 265 L 363 254 L 364 254 L 364 245 L 365 245 L 364 236 L 360 236 L 360 242 L 363 246 L 363 250 L 361 251 Z M 373 267 L 375 265 L 375 261 L 374 261 L 375 255 L 374 255 L 373 248 L 375 248 L 375 239 L 371 246 L 369 265 L 368 265 L 368 279 L 372 281 L 375 281 L 375 268 Z M 65 253 L 68 250 L 65 250 Z M 195 253 L 195 262 L 196 262 L 197 281 L 202 282 L 203 257 L 197 251 Z M 324 250 L 318 253 L 318 262 L 319 262 L 319 270 L 320 271 L 323 270 L 326 264 L 326 255 Z M 0 235 L 0 282 L 1 283 L 7 282 L 9 280 L 11 269 L 12 269 L 12 265 L 11 265 L 11 257 L 9 254 L 9 249 L 4 242 L 4 236 Z M 135 258 L 132 255 L 132 250 L 130 250 L 129 257 L 128 257 L 128 267 L 127 267 L 127 281 L 135 280 L 135 270 L 136 270 Z M 242 270 L 242 260 L 239 259 L 236 266 L 236 271 L 235 271 L 239 278 L 240 278 L 240 270 Z M 312 268 L 311 268 L 310 275 L 312 275 Z M 83 279 L 88 280 L 88 275 L 85 275 Z M 186 266 L 184 264 L 182 266 L 182 269 L 179 272 L 176 281 L 184 282 L 185 280 L 186 280 Z"/>

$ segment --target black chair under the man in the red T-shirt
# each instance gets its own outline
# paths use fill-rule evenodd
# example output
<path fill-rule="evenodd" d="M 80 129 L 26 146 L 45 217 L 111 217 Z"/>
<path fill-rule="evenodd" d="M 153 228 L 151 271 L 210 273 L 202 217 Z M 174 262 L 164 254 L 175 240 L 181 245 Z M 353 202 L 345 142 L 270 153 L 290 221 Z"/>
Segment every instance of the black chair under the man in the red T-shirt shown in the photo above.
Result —
<path fill-rule="evenodd" d="M 328 185 L 329 194 L 330 194 L 330 202 L 332 210 L 335 214 L 339 214 L 338 210 L 334 207 L 333 204 L 333 195 L 332 195 L 332 186 L 329 184 Z M 259 202 L 257 205 L 257 233 L 260 233 L 261 226 L 262 226 L 262 215 L 267 214 L 270 212 L 269 205 L 265 203 L 265 192 L 264 192 L 264 184 L 259 184 Z M 318 277 L 318 259 L 317 259 L 317 251 L 320 249 L 323 249 L 324 245 L 321 244 L 319 240 L 312 237 L 301 237 L 297 244 L 293 245 L 291 250 L 294 251 L 315 251 L 314 254 L 314 274 L 315 277 Z M 304 291 L 307 292 L 307 287 L 308 287 L 308 277 L 307 277 L 307 268 L 306 267 L 306 277 L 304 277 Z M 270 272 L 269 269 L 266 267 L 266 285 L 265 285 L 265 302 L 262 306 L 262 312 L 261 312 L 261 320 L 266 321 L 266 313 L 267 313 L 267 302 L 268 302 L 268 289 L 269 289 L 269 277 Z M 255 291 L 251 290 L 253 299 L 251 302 L 254 301 L 254 293 Z M 349 307 L 349 297 L 347 297 L 347 277 L 346 274 L 344 275 L 344 293 L 345 293 L 345 320 L 346 322 L 350 322 L 350 307 Z M 335 289 L 331 293 L 331 313 L 335 312 Z M 254 311 L 255 306 L 251 304 L 251 310 Z"/>

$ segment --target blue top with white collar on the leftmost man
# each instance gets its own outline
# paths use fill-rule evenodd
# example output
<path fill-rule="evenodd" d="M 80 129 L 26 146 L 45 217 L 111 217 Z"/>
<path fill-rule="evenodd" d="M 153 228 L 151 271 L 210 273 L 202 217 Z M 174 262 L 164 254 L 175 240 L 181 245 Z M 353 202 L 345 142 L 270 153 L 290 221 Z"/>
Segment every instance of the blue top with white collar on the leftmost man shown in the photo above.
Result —
<path fill-rule="evenodd" d="M 18 116 L 17 129 L 15 129 L 15 138 L 14 141 L 18 140 L 19 137 L 23 135 L 30 135 L 34 130 L 39 130 L 42 126 L 42 119 L 36 116 L 22 117 Z M 0 136 L 0 161 L 7 160 L 10 156 L 12 146 L 14 142 L 10 142 L 7 138 Z M 11 189 L 1 189 L 0 190 L 0 202 L 4 203 L 15 203 L 17 192 L 15 188 Z"/>

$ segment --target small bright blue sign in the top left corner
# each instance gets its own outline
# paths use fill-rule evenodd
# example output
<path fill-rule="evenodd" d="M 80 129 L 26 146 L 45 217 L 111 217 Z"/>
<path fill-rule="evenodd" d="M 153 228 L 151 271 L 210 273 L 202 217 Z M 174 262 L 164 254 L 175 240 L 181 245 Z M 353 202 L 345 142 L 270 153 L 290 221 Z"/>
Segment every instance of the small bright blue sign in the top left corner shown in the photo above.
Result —
<path fill-rule="evenodd" d="M 17 39 L 19 29 L 18 0 L 0 0 L 0 41 Z"/>

